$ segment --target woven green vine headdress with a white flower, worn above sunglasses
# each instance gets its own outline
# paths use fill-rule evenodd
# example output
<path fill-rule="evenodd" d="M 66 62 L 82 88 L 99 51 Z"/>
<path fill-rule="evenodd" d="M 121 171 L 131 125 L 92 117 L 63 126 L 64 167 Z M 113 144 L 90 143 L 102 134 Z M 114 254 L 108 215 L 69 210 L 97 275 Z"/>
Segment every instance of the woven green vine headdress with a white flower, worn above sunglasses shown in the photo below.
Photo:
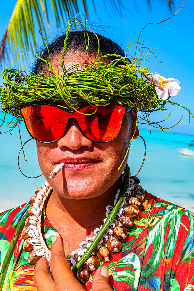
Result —
<path fill-rule="evenodd" d="M 83 68 L 83 63 L 80 63 L 66 69 L 64 65 L 65 50 L 67 48 L 69 30 L 73 22 L 79 23 L 84 27 L 88 65 L 84 64 L 85 67 Z M 159 125 L 159 122 L 149 121 L 149 115 L 153 111 L 166 110 L 165 104 L 167 102 L 186 109 L 190 118 L 192 113 L 188 108 L 169 100 L 170 96 L 178 94 L 180 83 L 176 79 L 165 79 L 157 72 L 151 74 L 149 73 L 149 68 L 141 66 L 142 58 L 145 58 L 148 54 L 136 58 L 135 52 L 134 58 L 130 59 L 126 56 L 126 53 L 125 56 L 117 54 L 99 56 L 99 39 L 97 34 L 92 31 L 98 41 L 98 53 L 95 60 L 92 61 L 88 54 L 90 46 L 88 31 L 92 30 L 86 26 L 86 22 L 82 24 L 77 15 L 68 19 L 62 60 L 59 66 L 62 72 L 60 77 L 52 66 L 49 50 L 48 58 L 43 53 L 41 56 L 37 56 L 42 62 L 45 62 L 45 68 L 48 67 L 49 74 L 47 76 L 45 75 L 45 70 L 39 74 L 34 74 L 31 71 L 21 71 L 17 68 L 3 71 L 4 82 L 0 86 L 1 108 L 5 116 L 9 113 L 12 119 L 8 122 L 5 121 L 4 117 L 1 124 L 1 132 L 4 123 L 7 123 L 7 131 L 10 132 L 19 125 L 22 120 L 19 110 L 21 107 L 35 102 L 54 103 L 56 100 L 64 101 L 64 105 L 61 105 L 63 108 L 72 108 L 74 110 L 79 110 L 80 104 L 85 102 L 96 107 L 106 106 L 110 103 L 128 105 L 136 109 L 137 116 L 139 112 L 142 112 L 141 118 L 144 119 L 144 123 L 147 121 L 149 125 L 161 128 L 162 126 Z M 151 52 L 152 49 L 149 54 Z M 104 61 L 105 58 L 110 57 L 113 61 L 110 63 Z M 80 69 L 81 66 L 82 68 Z M 167 118 L 169 116 L 170 114 Z M 140 123 L 141 120 L 139 121 Z"/>

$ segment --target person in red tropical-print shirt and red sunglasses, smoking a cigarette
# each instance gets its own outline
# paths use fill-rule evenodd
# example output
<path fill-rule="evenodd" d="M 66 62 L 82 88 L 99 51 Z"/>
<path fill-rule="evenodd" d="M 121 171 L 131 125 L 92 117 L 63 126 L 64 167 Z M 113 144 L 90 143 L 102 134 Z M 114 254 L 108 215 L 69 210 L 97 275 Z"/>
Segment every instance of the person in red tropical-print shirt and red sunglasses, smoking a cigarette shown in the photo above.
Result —
<path fill-rule="evenodd" d="M 84 31 L 68 37 L 65 70 L 82 64 L 77 70 L 84 71 L 97 56 L 106 54 L 111 54 L 103 59 L 107 64 L 117 59 L 115 54 L 125 57 L 117 44 L 102 36 L 98 35 L 98 44 L 96 36 L 88 32 L 87 54 Z M 59 76 L 64 73 L 60 67 L 64 39 L 61 36 L 49 46 L 50 62 Z M 43 55 L 49 59 L 47 50 Z M 46 78 L 49 69 L 38 59 L 34 72 L 46 70 Z M 27 130 L 36 140 L 47 182 L 30 200 L 30 219 L 23 220 L 22 237 L 12 247 L 1 290 L 192 290 L 193 214 L 144 191 L 138 178 L 127 178 L 125 154 L 131 139 L 139 135 L 136 110 L 110 103 L 79 105 L 79 112 L 72 112 L 61 100 L 26 104 L 21 109 Z M 62 170 L 51 178 L 58 165 Z M 88 259 L 77 272 L 78 281 L 71 270 L 90 249 L 106 217 L 112 215 L 121 192 L 124 198 L 118 213 L 92 253 L 92 261 Z M 28 208 L 25 204 L 1 214 L 1 262 L 8 256 L 15 229 Z"/>

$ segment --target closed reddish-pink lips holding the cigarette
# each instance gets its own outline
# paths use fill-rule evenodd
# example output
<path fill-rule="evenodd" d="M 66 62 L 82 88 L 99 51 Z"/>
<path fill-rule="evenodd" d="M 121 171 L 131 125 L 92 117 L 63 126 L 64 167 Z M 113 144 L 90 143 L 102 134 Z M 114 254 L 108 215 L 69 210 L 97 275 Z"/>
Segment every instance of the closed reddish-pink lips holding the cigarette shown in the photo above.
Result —
<path fill-rule="evenodd" d="M 88 159 L 88 158 L 65 158 L 61 159 L 57 164 L 65 163 L 64 168 L 68 170 L 80 171 L 84 169 L 88 169 L 91 166 L 99 163 L 99 160 L 96 159 Z"/>

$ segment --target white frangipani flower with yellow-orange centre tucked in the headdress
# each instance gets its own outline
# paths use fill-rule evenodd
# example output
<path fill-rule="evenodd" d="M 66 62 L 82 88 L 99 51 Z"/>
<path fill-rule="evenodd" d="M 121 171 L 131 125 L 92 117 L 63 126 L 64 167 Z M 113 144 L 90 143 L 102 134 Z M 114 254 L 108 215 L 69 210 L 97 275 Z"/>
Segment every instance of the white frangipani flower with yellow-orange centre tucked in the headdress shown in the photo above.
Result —
<path fill-rule="evenodd" d="M 159 99 L 167 100 L 168 95 L 171 97 L 176 96 L 181 90 L 181 85 L 177 79 L 166 79 L 158 72 L 155 72 L 155 74 L 149 73 L 147 74 L 147 77 L 150 80 L 153 80 Z"/>

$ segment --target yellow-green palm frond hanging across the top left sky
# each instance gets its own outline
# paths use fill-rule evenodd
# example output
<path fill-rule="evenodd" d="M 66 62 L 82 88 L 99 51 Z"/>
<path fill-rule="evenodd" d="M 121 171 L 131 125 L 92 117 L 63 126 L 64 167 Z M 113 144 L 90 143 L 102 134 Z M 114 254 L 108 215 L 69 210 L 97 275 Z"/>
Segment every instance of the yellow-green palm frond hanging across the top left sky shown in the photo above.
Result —
<path fill-rule="evenodd" d="M 65 22 L 67 11 L 69 10 L 69 16 L 72 17 L 79 13 L 81 6 L 85 11 L 86 17 L 88 17 L 88 0 L 17 0 L 10 21 L 8 23 L 5 34 L 0 44 L 0 67 L 3 61 L 14 60 L 14 65 L 23 64 L 29 62 L 29 52 L 35 52 L 37 49 L 37 41 L 35 38 L 35 32 L 38 29 L 42 29 L 44 36 L 47 35 L 46 31 L 51 30 L 49 27 L 49 7 L 51 7 L 54 20 L 57 27 L 61 26 L 61 21 Z M 95 0 L 92 0 L 93 7 L 95 9 Z M 120 13 L 121 0 L 109 0 L 109 7 L 114 8 L 115 11 Z M 106 1 L 106 4 L 107 1 Z M 46 38 L 47 40 L 47 38 Z"/>

